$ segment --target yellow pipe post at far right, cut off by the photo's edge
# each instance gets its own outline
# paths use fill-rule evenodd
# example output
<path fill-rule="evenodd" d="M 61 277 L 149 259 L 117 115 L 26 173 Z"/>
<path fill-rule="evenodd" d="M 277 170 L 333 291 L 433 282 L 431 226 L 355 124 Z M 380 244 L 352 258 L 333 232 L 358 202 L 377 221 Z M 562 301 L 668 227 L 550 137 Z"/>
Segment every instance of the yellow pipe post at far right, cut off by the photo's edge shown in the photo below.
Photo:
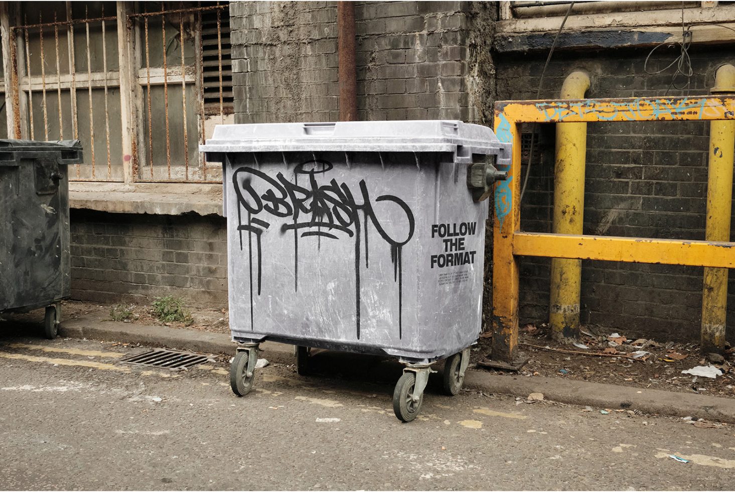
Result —
<path fill-rule="evenodd" d="M 735 67 L 717 68 L 712 93 L 735 93 Z M 709 177 L 707 181 L 708 241 L 730 240 L 730 218 L 735 153 L 735 121 L 709 124 Z M 728 307 L 728 269 L 704 268 L 701 349 L 703 354 L 725 350 L 725 318 Z"/>

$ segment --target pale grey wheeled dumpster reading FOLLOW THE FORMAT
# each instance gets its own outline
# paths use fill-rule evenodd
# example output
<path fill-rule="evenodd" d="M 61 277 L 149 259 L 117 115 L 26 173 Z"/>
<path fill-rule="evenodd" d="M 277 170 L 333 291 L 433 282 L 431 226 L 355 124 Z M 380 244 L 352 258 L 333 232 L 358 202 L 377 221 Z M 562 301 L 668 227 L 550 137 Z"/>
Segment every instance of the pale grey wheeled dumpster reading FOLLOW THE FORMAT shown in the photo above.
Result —
<path fill-rule="evenodd" d="M 232 389 L 251 390 L 258 343 L 387 354 L 406 365 L 410 421 L 431 363 L 455 394 L 481 329 L 490 187 L 509 144 L 461 121 L 217 126 L 223 163 Z"/>

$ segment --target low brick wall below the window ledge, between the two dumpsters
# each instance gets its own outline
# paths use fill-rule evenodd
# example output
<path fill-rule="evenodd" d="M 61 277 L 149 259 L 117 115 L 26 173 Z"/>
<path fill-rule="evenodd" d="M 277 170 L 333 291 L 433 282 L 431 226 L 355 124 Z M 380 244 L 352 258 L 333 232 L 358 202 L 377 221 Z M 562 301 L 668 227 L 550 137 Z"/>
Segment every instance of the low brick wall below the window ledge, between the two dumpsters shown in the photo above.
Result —
<path fill-rule="evenodd" d="M 73 299 L 227 306 L 225 219 L 71 210 Z"/>

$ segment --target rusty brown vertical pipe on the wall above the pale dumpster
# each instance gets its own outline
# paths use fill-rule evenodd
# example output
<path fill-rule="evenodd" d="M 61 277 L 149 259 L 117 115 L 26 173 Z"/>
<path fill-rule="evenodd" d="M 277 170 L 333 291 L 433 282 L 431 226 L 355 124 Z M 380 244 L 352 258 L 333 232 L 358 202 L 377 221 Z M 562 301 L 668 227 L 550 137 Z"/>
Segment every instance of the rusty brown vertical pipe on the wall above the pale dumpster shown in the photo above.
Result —
<path fill-rule="evenodd" d="M 340 121 L 356 121 L 355 4 L 351 1 L 337 1 L 337 45 Z"/>

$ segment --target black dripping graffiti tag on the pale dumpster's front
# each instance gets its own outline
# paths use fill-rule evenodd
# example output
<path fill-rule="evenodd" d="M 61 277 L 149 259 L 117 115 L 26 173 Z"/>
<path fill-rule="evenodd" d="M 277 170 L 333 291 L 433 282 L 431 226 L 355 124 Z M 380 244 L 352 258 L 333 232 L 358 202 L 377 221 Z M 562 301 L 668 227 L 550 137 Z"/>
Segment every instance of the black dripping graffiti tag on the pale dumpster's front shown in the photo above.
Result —
<path fill-rule="evenodd" d="M 250 255 L 251 277 L 251 324 L 252 324 L 252 239 L 255 236 L 257 248 L 257 291 L 260 294 L 261 284 L 261 247 L 260 235 L 270 227 L 268 218 L 289 218 L 282 224 L 281 231 L 293 231 L 294 238 L 294 289 L 298 290 L 298 238 L 318 236 L 318 239 L 327 238 L 338 240 L 342 233 L 355 241 L 355 277 L 356 277 L 356 324 L 357 338 L 360 327 L 360 292 L 359 274 L 362 259 L 361 235 L 365 241 L 365 268 L 369 266 L 368 255 L 368 224 L 372 224 L 379 237 L 390 246 L 391 260 L 394 267 L 394 280 L 398 282 L 398 331 L 402 336 L 402 271 L 401 248 L 414 235 L 415 219 L 410 207 L 393 195 L 381 195 L 375 203 L 387 202 L 397 205 L 405 215 L 408 231 L 405 237 L 394 238 L 390 235 L 379 220 L 373 208 L 373 200 L 368 192 L 365 179 L 358 183 L 357 199 L 351 188 L 345 182 L 330 179 L 329 182 L 319 184 L 318 177 L 324 181 L 326 174 L 334 166 L 326 160 L 309 160 L 295 166 L 293 182 L 282 172 L 271 177 L 256 168 L 241 166 L 232 174 L 232 185 L 237 195 L 237 219 L 240 231 L 240 249 L 243 249 L 242 232 L 248 232 L 248 246 Z M 301 184 L 299 183 L 301 181 Z M 241 209 L 244 208 L 248 220 L 243 224 Z M 362 215 L 362 217 L 361 217 Z M 397 221 L 395 215 L 392 222 Z M 362 224 L 361 224 L 362 221 Z M 361 228 L 362 226 L 362 228 Z M 251 325 L 252 326 L 252 325 Z"/>

